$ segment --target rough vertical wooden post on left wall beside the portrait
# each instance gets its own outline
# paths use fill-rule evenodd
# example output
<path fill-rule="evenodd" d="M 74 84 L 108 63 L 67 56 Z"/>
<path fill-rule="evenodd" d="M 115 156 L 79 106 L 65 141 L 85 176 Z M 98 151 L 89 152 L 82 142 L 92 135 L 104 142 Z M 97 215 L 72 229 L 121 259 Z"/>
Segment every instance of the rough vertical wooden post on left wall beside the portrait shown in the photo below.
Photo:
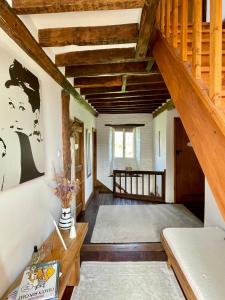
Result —
<path fill-rule="evenodd" d="M 70 152 L 70 95 L 62 91 L 62 141 L 63 141 L 63 170 L 65 176 L 71 176 L 71 152 Z"/>

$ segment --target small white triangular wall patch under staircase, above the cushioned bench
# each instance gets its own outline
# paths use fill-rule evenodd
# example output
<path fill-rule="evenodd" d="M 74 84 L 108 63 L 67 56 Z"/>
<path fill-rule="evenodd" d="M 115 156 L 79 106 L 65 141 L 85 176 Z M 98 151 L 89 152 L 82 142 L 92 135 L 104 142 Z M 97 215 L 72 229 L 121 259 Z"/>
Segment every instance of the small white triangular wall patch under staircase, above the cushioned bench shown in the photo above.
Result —
<path fill-rule="evenodd" d="M 205 180 L 205 227 L 218 226 L 225 230 L 223 219 L 207 179 Z"/>

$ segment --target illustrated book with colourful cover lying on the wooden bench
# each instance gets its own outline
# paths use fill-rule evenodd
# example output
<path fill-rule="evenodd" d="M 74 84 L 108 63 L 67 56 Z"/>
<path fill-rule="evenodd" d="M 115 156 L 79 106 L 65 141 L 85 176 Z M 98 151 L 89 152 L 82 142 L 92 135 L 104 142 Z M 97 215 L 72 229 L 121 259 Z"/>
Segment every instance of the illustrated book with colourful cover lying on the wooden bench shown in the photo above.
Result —
<path fill-rule="evenodd" d="M 49 261 L 26 268 L 17 300 L 57 299 L 59 263 Z"/>

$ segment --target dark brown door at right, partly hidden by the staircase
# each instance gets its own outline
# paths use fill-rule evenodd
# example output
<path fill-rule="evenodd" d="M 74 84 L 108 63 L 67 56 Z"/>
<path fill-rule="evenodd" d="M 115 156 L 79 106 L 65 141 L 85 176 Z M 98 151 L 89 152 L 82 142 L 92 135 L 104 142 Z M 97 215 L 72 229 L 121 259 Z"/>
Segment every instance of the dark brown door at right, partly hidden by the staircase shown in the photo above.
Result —
<path fill-rule="evenodd" d="M 180 118 L 174 119 L 175 203 L 204 219 L 205 176 Z"/>

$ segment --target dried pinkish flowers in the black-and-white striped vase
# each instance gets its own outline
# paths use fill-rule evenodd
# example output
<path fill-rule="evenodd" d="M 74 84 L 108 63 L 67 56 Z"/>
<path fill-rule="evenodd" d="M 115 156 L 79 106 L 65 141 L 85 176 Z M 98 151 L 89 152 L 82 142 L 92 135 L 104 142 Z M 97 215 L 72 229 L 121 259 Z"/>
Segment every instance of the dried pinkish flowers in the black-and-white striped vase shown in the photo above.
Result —
<path fill-rule="evenodd" d="M 65 173 L 56 173 L 54 170 L 54 193 L 60 199 L 62 207 L 70 207 L 72 196 L 76 195 L 80 190 L 80 181 L 69 180 Z"/>

